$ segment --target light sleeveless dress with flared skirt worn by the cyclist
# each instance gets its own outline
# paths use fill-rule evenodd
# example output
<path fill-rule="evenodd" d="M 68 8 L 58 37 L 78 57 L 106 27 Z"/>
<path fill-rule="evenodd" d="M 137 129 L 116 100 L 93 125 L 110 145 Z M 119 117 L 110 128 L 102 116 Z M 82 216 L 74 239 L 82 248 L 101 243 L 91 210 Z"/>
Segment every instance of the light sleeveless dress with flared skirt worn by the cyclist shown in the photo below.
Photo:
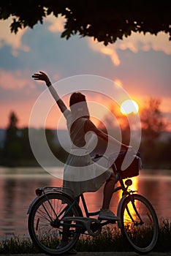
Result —
<path fill-rule="evenodd" d="M 77 197 L 83 192 L 95 192 L 110 178 L 113 170 L 103 167 L 91 159 L 89 153 L 92 151 L 94 142 L 96 143 L 96 136 L 93 132 L 88 132 L 88 135 L 85 136 L 84 126 L 87 118 L 79 118 L 72 125 L 72 112 L 66 110 L 64 116 L 72 146 L 64 166 L 63 185 L 69 188 L 66 191 L 72 197 Z"/>

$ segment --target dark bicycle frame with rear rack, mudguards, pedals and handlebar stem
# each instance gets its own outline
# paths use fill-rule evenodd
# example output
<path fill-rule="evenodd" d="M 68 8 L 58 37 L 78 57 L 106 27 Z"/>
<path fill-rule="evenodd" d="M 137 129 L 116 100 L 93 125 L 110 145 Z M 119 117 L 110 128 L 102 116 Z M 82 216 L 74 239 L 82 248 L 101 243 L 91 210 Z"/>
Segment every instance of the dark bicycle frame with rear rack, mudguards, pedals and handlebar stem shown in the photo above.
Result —
<path fill-rule="evenodd" d="M 113 166 L 113 168 L 114 167 L 115 166 Z M 116 167 L 115 167 L 115 170 L 116 170 Z M 117 192 L 118 190 L 123 191 L 122 197 L 118 203 L 118 209 L 117 209 L 117 216 L 120 217 L 121 216 L 121 206 L 123 204 L 123 201 L 125 200 L 125 198 L 127 196 L 131 196 L 131 194 L 134 193 L 134 191 L 128 192 L 128 187 L 132 184 L 132 181 L 130 179 L 126 180 L 127 185 L 125 187 L 125 185 L 123 184 L 123 180 L 121 178 L 121 174 L 119 172 L 116 173 L 116 177 L 117 177 L 117 180 L 120 182 L 121 186 L 116 187 L 113 191 L 113 194 L 115 192 Z M 37 200 L 39 200 L 39 197 L 42 197 L 43 195 L 45 197 L 47 197 L 47 195 L 52 192 L 61 193 L 61 194 L 65 195 L 66 197 L 69 197 L 69 193 L 64 192 L 63 187 L 39 187 L 36 189 L 37 197 L 33 200 L 31 205 L 29 206 L 27 214 L 29 214 L 31 212 L 31 208 L 34 206 L 34 203 L 36 203 Z M 61 225 L 70 226 L 70 227 L 80 227 L 80 228 L 82 228 L 83 231 L 85 231 L 85 229 L 86 229 L 88 231 L 89 235 L 91 235 L 91 236 L 97 236 L 101 232 L 102 227 L 104 225 L 115 223 L 115 221 L 111 221 L 111 220 L 106 220 L 104 222 L 100 222 L 99 219 L 92 218 L 96 215 L 99 215 L 99 211 L 89 212 L 87 205 L 86 205 L 86 200 L 85 200 L 84 195 L 83 194 L 80 195 L 80 198 L 83 203 L 83 210 L 86 214 L 86 217 L 83 217 L 83 211 L 80 209 L 80 206 L 77 203 L 77 199 L 73 200 L 72 197 L 69 197 L 69 199 L 72 200 L 71 206 L 69 206 L 69 208 L 64 208 L 63 211 L 61 211 L 61 213 L 58 216 L 56 215 L 56 212 L 54 211 L 53 206 L 50 204 L 48 197 L 47 197 L 47 202 L 49 203 L 50 208 L 52 208 L 52 211 L 55 214 L 56 219 L 60 218 L 61 215 L 64 213 L 64 215 L 62 217 L 62 220 L 64 220 L 64 222 L 61 223 Z M 134 202 L 132 202 L 132 203 L 134 204 Z M 80 213 L 81 213 L 80 217 L 68 217 L 69 211 L 72 210 L 72 207 L 74 207 L 75 204 L 77 204 L 77 207 L 80 209 Z M 46 211 L 46 209 L 45 209 L 45 211 Z M 66 223 L 66 222 L 73 221 L 73 220 L 75 220 L 75 222 L 77 222 L 77 223 L 76 224 Z M 51 219 L 51 221 L 54 222 L 54 227 L 56 227 L 55 221 L 53 221 L 53 219 Z M 92 227 L 94 227 L 95 232 L 94 232 L 94 230 L 92 230 Z M 118 227 L 121 227 L 121 220 L 118 220 Z"/>

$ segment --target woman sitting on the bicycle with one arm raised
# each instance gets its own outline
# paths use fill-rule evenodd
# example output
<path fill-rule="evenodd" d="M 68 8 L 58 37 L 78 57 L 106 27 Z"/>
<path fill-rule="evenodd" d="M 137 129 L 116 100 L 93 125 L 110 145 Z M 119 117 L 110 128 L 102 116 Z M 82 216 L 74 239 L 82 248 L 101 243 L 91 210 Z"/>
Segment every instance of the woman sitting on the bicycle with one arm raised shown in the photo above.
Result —
<path fill-rule="evenodd" d="M 118 151 L 127 151 L 131 146 L 126 146 L 115 138 L 99 130 L 90 120 L 85 95 L 75 92 L 69 100 L 70 110 L 66 108 L 63 100 L 50 83 L 45 72 L 32 75 L 34 80 L 45 81 L 50 93 L 56 100 L 58 108 L 66 118 L 66 124 L 72 141 L 71 151 L 64 166 L 64 187 L 71 189 L 72 197 L 79 197 L 83 192 L 95 192 L 104 184 L 104 197 L 102 208 L 99 212 L 99 219 L 117 220 L 118 217 L 110 211 L 110 200 L 115 187 L 115 173 L 97 165 L 91 159 L 89 148 L 94 143 L 96 136 L 111 143 Z M 96 136 L 95 136 L 95 135 Z"/>

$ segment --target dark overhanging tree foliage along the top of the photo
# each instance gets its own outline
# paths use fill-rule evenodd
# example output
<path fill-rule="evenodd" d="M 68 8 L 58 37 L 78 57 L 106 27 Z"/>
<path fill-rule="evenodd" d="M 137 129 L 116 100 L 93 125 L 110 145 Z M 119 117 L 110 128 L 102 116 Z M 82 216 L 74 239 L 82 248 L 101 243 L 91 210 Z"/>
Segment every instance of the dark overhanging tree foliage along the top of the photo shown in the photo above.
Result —
<path fill-rule="evenodd" d="M 171 39 L 171 1 L 97 0 L 1 0 L 0 19 L 12 15 L 11 31 L 30 27 L 50 14 L 64 16 L 61 37 L 73 34 L 94 37 L 104 45 L 129 37 L 134 32 L 157 34 L 164 31 Z"/>

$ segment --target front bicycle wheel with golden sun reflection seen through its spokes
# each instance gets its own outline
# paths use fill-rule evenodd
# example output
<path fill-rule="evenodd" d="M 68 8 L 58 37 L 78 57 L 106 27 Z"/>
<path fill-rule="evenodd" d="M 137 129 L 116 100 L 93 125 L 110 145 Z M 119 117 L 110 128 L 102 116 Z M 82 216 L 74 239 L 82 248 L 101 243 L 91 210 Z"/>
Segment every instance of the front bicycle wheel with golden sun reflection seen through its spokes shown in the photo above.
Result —
<path fill-rule="evenodd" d="M 151 252 L 159 236 L 159 223 L 151 203 L 142 195 L 126 197 L 121 208 L 121 233 L 133 249 Z"/>

